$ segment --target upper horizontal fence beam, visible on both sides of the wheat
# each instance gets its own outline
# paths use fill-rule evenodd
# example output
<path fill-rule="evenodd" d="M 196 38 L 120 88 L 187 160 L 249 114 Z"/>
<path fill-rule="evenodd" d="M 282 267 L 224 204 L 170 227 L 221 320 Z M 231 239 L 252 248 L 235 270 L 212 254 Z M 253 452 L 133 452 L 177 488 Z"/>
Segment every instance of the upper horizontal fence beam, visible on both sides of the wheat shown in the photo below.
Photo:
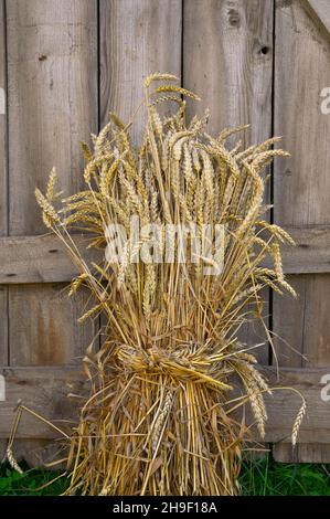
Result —
<path fill-rule="evenodd" d="M 287 274 L 330 273 L 330 226 L 289 227 L 297 243 L 284 247 Z M 88 241 L 75 236 L 87 262 L 100 258 L 100 251 L 86 250 Z M 0 239 L 0 284 L 61 283 L 76 275 L 65 246 L 53 235 Z"/>

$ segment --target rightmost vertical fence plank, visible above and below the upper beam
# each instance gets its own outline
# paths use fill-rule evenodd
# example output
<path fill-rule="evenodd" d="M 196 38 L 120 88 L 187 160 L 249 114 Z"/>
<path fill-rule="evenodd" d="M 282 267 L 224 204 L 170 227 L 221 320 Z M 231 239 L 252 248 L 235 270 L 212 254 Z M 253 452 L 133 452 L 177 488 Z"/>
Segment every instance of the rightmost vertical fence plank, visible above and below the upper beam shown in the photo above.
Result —
<path fill-rule="evenodd" d="M 329 20 L 329 3 L 323 3 L 322 14 Z M 292 155 L 275 165 L 275 219 L 281 225 L 330 223 L 330 116 L 321 112 L 320 95 L 330 86 L 326 25 L 309 2 L 277 2 L 275 133 L 284 136 L 283 146 Z M 330 367 L 330 276 L 291 276 L 290 280 L 298 301 L 274 300 L 274 328 L 283 339 L 276 345 L 278 361 L 286 367 Z M 299 445 L 295 453 L 289 445 L 278 445 L 274 455 L 286 460 L 330 460 L 329 447 L 321 445 L 317 449 Z"/>

